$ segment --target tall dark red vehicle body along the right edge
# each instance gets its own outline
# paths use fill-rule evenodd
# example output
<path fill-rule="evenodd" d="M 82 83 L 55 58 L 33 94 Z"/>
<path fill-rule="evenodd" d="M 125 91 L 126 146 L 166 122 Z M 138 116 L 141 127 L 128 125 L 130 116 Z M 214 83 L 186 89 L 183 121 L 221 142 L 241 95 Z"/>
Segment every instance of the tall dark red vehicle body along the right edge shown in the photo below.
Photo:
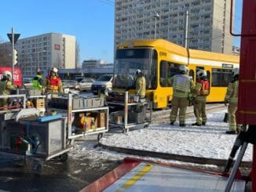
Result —
<path fill-rule="evenodd" d="M 231 5 L 232 7 L 232 5 Z M 238 107 L 236 121 L 249 125 L 251 136 L 244 138 L 254 144 L 253 162 L 251 165 L 251 191 L 256 191 L 256 1 L 243 0 L 243 19 L 241 34 L 240 75 Z M 232 11 L 230 13 L 232 15 Z M 230 27 L 232 31 L 232 25 Z M 248 134 L 249 135 L 249 134 Z"/>

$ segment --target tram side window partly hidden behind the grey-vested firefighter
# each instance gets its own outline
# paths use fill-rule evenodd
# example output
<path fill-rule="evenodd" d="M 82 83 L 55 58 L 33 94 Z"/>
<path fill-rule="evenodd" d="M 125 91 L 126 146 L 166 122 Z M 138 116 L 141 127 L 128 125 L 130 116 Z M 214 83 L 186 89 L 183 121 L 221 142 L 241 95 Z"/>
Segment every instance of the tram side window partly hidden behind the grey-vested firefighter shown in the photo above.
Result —
<path fill-rule="evenodd" d="M 168 79 L 175 74 L 179 74 L 179 64 L 170 63 L 169 61 L 162 60 L 160 62 L 160 85 L 162 87 L 169 87 Z"/>

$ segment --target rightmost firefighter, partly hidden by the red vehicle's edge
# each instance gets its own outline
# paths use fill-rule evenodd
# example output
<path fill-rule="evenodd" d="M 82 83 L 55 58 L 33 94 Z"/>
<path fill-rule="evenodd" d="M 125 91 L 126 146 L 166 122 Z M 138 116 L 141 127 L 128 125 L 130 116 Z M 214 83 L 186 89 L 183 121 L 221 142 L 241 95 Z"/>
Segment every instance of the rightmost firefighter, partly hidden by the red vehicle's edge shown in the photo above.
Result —
<path fill-rule="evenodd" d="M 225 102 L 229 103 L 229 131 L 227 134 L 236 134 L 240 132 L 240 125 L 236 124 L 236 110 L 237 110 L 237 96 L 238 96 L 238 79 L 239 79 L 239 68 L 233 69 L 232 82 L 229 83 Z"/>

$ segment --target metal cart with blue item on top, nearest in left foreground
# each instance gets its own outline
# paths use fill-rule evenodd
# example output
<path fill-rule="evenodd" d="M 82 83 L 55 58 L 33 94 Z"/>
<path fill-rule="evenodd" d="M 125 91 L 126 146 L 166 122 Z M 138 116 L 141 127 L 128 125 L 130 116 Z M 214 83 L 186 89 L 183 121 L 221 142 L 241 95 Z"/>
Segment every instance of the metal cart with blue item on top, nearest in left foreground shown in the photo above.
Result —
<path fill-rule="evenodd" d="M 0 96 L 18 98 L 25 95 Z M 60 161 L 68 159 L 71 145 L 67 142 L 65 119 L 61 116 L 39 118 L 40 111 L 35 108 L 0 111 L 0 151 L 14 154 L 34 161 L 32 170 L 41 173 L 43 162 L 59 157 Z"/>

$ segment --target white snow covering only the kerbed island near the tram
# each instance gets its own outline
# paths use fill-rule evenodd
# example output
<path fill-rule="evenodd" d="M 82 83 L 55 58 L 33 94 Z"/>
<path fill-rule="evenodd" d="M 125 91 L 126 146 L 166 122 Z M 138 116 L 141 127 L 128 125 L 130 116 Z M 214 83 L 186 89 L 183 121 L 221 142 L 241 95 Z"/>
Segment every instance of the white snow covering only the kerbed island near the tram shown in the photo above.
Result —
<path fill-rule="evenodd" d="M 192 126 L 195 118 L 181 128 L 169 123 L 151 125 L 125 134 L 104 137 L 101 143 L 113 147 L 151 150 L 167 154 L 182 154 L 203 158 L 228 159 L 237 135 L 227 135 L 228 124 L 223 122 L 225 110 L 207 114 L 206 126 Z M 237 152 L 238 154 L 238 152 Z M 251 161 L 252 146 L 248 145 L 243 161 Z"/>

